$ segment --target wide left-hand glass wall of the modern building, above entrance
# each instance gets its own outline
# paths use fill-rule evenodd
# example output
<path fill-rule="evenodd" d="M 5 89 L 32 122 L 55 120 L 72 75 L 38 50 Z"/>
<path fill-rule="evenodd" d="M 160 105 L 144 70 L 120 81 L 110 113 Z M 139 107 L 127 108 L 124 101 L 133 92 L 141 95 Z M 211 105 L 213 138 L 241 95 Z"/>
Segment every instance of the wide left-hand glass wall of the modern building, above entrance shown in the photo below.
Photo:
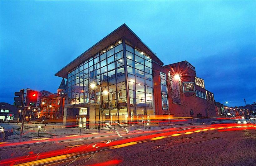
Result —
<path fill-rule="evenodd" d="M 96 88 L 91 89 L 91 83 L 95 83 Z M 109 91 L 109 94 L 104 94 L 104 90 Z M 127 122 L 124 54 L 121 40 L 68 73 L 68 104 L 82 103 L 95 105 L 96 121 L 99 120 L 100 115 L 102 121 Z M 101 113 L 98 111 L 100 106 Z"/>

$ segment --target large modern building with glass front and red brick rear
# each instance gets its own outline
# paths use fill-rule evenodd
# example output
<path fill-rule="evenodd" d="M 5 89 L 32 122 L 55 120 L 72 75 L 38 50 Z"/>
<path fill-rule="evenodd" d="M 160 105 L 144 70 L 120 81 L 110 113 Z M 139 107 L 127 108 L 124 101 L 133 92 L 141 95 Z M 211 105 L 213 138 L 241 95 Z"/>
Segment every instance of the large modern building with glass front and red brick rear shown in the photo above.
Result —
<path fill-rule="evenodd" d="M 187 117 L 191 109 L 195 116 L 209 115 L 205 110 L 212 112 L 213 97 L 205 100 L 194 67 L 187 61 L 163 64 L 129 27 L 120 26 L 55 74 L 67 79 L 63 123 L 128 125 L 160 117 L 156 115 Z M 175 74 L 185 77 L 173 83 Z"/>

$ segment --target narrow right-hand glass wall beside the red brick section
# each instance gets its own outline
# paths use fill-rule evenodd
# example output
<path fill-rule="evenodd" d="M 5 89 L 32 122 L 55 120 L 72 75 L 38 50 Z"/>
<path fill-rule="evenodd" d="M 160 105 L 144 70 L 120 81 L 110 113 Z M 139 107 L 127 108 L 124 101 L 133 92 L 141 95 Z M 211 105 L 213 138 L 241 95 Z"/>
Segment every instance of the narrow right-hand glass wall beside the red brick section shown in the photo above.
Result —
<path fill-rule="evenodd" d="M 143 121 L 145 115 L 154 115 L 152 59 L 126 44 L 126 61 L 131 121 Z"/>

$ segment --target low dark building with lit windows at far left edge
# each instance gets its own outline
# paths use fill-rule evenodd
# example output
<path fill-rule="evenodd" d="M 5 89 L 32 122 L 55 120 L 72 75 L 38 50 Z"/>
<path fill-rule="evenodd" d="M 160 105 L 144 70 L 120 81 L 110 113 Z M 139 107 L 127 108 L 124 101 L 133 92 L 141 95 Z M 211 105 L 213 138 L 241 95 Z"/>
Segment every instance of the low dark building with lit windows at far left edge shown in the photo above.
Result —
<path fill-rule="evenodd" d="M 6 102 L 0 102 L 0 121 L 13 120 L 18 117 L 18 108 Z"/>

